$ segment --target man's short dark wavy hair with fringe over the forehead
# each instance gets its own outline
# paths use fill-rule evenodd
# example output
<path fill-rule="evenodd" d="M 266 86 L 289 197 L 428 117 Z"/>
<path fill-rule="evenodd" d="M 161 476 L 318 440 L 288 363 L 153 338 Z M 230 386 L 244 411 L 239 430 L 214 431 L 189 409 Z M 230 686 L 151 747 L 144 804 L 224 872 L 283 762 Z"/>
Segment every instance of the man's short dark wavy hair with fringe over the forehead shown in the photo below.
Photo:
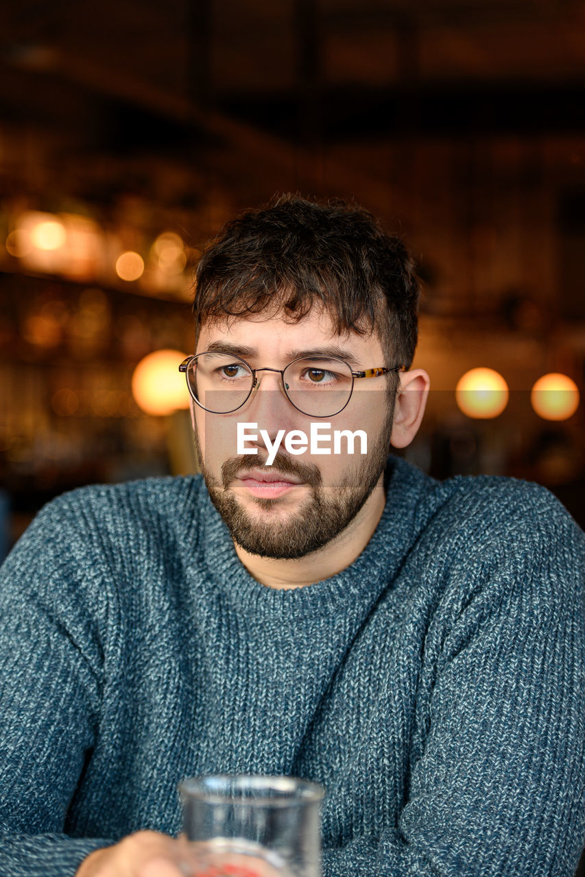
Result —
<path fill-rule="evenodd" d="M 296 323 L 314 303 L 339 335 L 379 335 L 387 366 L 410 367 L 420 286 L 401 239 L 339 199 L 276 196 L 209 242 L 195 278 L 196 333 L 207 321 L 264 311 Z"/>

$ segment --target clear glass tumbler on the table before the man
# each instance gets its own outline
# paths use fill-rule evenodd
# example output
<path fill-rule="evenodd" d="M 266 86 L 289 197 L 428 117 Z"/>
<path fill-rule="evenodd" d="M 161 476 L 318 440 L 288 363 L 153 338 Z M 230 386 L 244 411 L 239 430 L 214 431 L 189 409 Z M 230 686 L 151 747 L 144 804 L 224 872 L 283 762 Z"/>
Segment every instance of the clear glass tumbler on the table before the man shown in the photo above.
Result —
<path fill-rule="evenodd" d="M 192 874 L 320 877 L 325 789 L 319 783 L 210 774 L 185 780 L 179 794 L 184 834 L 198 859 Z"/>

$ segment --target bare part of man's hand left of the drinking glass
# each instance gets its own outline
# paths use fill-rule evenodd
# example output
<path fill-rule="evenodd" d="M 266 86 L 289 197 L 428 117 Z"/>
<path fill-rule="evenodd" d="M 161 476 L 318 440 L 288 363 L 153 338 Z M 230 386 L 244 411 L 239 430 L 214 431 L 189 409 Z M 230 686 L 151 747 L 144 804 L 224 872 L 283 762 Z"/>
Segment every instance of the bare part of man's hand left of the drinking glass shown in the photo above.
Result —
<path fill-rule="evenodd" d="M 195 861 L 185 838 L 137 831 L 118 844 L 91 852 L 76 877 L 186 877 Z"/>

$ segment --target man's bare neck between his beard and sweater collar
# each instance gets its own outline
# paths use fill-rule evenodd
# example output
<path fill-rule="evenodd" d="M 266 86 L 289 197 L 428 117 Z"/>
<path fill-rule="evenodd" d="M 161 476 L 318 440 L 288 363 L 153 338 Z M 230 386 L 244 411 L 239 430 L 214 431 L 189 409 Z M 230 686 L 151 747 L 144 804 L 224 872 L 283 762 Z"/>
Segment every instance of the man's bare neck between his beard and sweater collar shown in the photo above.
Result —
<path fill-rule="evenodd" d="M 235 543 L 235 552 L 256 581 L 269 588 L 303 588 L 324 581 L 349 567 L 364 551 L 379 524 L 386 504 L 380 479 L 353 521 L 339 536 L 299 560 L 273 560 L 250 554 Z"/>

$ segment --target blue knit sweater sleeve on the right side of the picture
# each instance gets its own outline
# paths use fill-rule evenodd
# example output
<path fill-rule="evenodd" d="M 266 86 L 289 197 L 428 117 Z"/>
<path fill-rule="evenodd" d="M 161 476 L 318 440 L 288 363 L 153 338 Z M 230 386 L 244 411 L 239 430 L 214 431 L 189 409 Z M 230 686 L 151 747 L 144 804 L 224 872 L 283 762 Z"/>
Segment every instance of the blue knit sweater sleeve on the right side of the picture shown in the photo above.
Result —
<path fill-rule="evenodd" d="M 531 488 L 524 521 L 486 527 L 451 564 L 398 825 L 378 843 L 325 850 L 324 877 L 573 877 L 585 840 L 585 535 Z"/>

